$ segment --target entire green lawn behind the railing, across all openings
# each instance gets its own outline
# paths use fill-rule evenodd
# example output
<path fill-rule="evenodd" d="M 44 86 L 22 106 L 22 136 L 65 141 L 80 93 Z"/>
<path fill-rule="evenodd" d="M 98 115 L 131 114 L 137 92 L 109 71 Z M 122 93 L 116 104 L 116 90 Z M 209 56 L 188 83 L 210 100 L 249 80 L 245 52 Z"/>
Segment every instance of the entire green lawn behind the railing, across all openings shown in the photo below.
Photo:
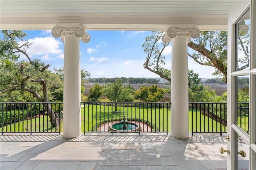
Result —
<path fill-rule="evenodd" d="M 96 120 L 97 123 L 103 123 L 104 121 L 108 120 L 116 120 L 123 119 L 125 116 L 126 119 L 140 119 L 144 121 L 150 121 L 152 124 L 156 125 L 158 127 L 159 131 L 166 131 L 167 129 L 167 115 L 168 115 L 168 132 L 170 132 L 170 109 L 166 108 L 139 108 L 139 107 L 124 107 L 124 106 L 118 106 L 117 107 L 117 113 L 112 113 L 112 111 L 115 110 L 115 107 L 113 106 L 102 106 L 102 105 L 89 105 L 86 107 L 81 108 L 82 113 L 82 132 L 85 131 L 91 131 L 93 127 L 96 127 Z M 85 113 L 85 121 L 84 121 L 84 113 Z M 97 113 L 97 114 L 96 114 Z M 109 113 L 109 114 L 108 114 Z M 93 119 L 92 119 L 93 118 Z M 248 117 L 242 117 L 238 118 L 238 122 L 240 125 L 240 119 L 242 120 L 242 129 L 247 132 L 248 130 Z M 197 124 L 196 124 L 197 120 Z M 225 128 L 224 125 L 220 125 L 220 123 L 216 123 L 216 121 L 212 120 L 210 117 L 201 115 L 199 112 L 196 114 L 194 110 L 194 116 L 193 116 L 193 131 L 196 130 L 198 132 L 220 132 L 220 128 L 222 128 L 222 132 L 224 132 Z M 201 121 L 201 125 L 200 125 Z M 48 122 L 48 123 L 47 123 Z M 189 110 L 189 132 L 192 132 L 192 110 Z M 99 124 L 98 124 L 99 125 Z M 32 130 L 31 130 L 32 127 Z M 5 126 L 3 128 L 3 131 L 6 132 L 26 132 L 26 129 L 28 131 L 32 132 L 51 132 L 51 131 L 59 131 L 59 127 L 50 127 L 49 121 L 47 121 L 47 116 L 43 117 L 36 117 L 32 118 L 32 121 L 30 119 L 24 120 L 24 122 L 16 122 L 12 123 L 11 125 Z M 63 129 L 63 121 L 61 121 L 61 127 L 60 131 L 62 132 Z M 95 128 L 94 128 L 95 129 Z M 2 131 L 2 128 L 0 128 L 0 131 Z M 98 131 L 98 130 L 97 130 Z"/>

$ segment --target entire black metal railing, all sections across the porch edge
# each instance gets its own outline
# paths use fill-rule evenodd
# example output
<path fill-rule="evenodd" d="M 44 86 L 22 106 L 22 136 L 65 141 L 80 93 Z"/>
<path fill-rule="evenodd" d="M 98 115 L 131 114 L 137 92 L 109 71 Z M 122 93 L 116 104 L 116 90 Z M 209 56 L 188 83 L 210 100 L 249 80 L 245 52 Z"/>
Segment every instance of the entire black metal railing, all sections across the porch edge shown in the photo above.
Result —
<path fill-rule="evenodd" d="M 170 106 L 170 102 L 81 102 L 82 132 L 168 133 Z M 226 106 L 189 102 L 190 133 L 226 133 Z M 0 132 L 60 134 L 62 117 L 63 102 L 1 102 Z M 126 123 L 135 129 L 122 128 Z M 249 133 L 248 103 L 238 104 L 236 124 Z"/>

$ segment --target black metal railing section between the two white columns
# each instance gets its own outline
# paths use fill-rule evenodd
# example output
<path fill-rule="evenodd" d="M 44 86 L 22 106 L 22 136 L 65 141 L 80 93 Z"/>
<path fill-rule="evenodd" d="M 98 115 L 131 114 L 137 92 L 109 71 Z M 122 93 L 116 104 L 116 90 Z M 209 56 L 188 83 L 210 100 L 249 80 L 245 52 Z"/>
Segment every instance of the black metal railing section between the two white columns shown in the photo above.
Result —
<path fill-rule="evenodd" d="M 84 133 L 164 132 L 170 128 L 170 102 L 82 102 Z"/>

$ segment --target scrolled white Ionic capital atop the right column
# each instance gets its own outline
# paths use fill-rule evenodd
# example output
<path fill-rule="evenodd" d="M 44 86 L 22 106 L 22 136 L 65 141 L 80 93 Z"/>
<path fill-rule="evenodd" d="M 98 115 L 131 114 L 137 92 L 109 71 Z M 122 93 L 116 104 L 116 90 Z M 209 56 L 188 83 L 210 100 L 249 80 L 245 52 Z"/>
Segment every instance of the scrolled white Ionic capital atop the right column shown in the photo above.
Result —
<path fill-rule="evenodd" d="M 178 36 L 187 36 L 189 39 L 197 38 L 200 35 L 200 29 L 195 24 L 191 23 L 174 23 L 166 29 L 166 34 L 162 36 L 164 43 L 169 43 L 170 40 Z"/>

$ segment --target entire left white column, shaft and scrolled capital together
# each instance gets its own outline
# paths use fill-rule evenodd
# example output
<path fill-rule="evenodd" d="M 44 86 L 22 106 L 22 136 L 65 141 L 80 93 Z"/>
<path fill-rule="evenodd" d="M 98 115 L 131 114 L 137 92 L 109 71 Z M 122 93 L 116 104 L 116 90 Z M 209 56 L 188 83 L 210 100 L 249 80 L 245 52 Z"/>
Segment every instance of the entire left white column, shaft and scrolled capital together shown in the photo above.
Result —
<path fill-rule="evenodd" d="M 64 94 L 63 94 L 63 137 L 81 135 L 81 70 L 80 38 L 90 41 L 80 23 L 57 23 L 52 28 L 54 37 L 64 41 Z"/>

